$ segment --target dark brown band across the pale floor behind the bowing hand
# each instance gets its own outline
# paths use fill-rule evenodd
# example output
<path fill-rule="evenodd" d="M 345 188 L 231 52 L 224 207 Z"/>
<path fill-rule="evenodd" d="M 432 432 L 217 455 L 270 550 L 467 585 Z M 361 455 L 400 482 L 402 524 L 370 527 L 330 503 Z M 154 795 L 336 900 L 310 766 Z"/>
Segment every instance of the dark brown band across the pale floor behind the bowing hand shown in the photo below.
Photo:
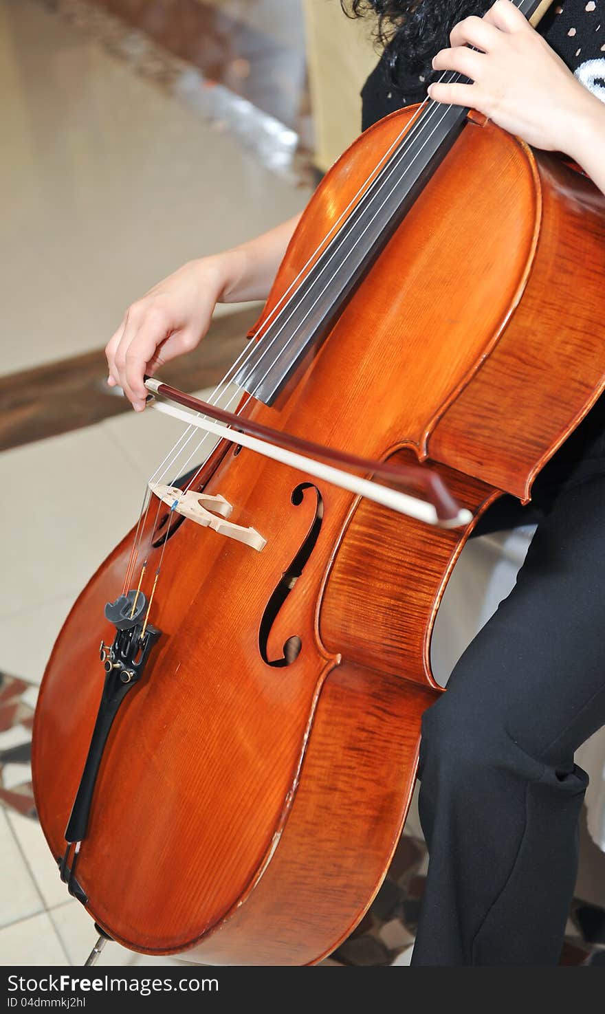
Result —
<path fill-rule="evenodd" d="M 246 308 L 216 317 L 202 344 L 167 363 L 162 376 L 181 390 L 218 383 L 243 349 L 256 315 Z M 125 397 L 111 393 L 106 376 L 102 349 L 0 376 L 0 451 L 132 411 Z"/>

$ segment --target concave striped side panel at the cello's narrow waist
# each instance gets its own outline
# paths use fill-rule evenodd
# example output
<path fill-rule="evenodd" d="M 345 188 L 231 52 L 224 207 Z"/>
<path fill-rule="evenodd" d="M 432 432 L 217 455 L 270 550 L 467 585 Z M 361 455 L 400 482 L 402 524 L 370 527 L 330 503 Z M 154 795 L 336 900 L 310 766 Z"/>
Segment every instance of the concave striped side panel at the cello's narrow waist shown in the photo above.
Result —
<path fill-rule="evenodd" d="M 412 451 L 400 450 L 390 460 L 414 459 Z M 493 501 L 484 483 L 443 465 L 436 470 L 473 514 Z M 327 575 L 320 612 L 325 646 L 334 651 L 347 645 L 341 650 L 352 662 L 433 684 L 431 618 L 463 542 L 460 530 L 431 528 L 362 500 Z M 380 580 L 368 575 L 369 565 Z"/>

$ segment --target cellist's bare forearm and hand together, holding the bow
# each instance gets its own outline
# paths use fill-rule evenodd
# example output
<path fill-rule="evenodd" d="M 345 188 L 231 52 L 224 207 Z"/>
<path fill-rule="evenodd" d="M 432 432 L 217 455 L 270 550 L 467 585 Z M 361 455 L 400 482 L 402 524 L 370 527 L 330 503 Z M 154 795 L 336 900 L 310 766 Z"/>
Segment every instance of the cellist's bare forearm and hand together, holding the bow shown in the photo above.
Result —
<path fill-rule="evenodd" d="M 215 257 L 190 261 L 129 306 L 105 346 L 107 383 L 120 386 L 137 412 L 145 408 L 143 378 L 195 349 L 218 302 L 267 299 L 300 215 Z"/>

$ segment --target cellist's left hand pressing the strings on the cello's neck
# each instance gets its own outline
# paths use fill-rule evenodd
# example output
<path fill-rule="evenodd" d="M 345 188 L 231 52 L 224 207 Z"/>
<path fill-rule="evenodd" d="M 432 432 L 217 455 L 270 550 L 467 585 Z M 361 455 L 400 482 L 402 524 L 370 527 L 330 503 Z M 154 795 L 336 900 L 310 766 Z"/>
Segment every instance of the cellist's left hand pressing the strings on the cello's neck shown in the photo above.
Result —
<path fill-rule="evenodd" d="M 436 81 L 429 87 L 432 98 L 470 106 L 536 148 L 574 154 L 587 110 L 598 99 L 510 0 L 497 0 L 482 18 L 460 21 L 450 42 L 433 67 L 458 71 L 473 83 Z"/>

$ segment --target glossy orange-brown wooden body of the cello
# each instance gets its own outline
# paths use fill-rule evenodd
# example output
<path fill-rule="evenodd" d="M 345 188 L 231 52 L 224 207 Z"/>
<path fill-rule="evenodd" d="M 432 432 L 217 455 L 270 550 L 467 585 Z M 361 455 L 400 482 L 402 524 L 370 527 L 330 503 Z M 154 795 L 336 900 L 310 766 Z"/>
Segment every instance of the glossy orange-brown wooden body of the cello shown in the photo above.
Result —
<path fill-rule="evenodd" d="M 324 177 L 263 315 L 413 113 L 376 124 Z M 109 937 L 205 964 L 313 964 L 362 919 L 405 819 L 422 714 L 443 693 L 430 642 L 456 559 L 503 492 L 529 500 L 605 386 L 604 276 L 605 198 L 471 116 L 321 347 L 272 407 L 246 412 L 427 462 L 473 520 L 429 527 L 219 446 L 200 488 L 267 545 L 190 522 L 166 541 L 161 637 L 111 726 L 78 859 L 81 900 Z M 132 540 L 82 591 L 41 687 L 33 784 L 57 859 L 103 685 L 103 605 Z M 142 541 L 153 564 L 155 510 Z"/>

